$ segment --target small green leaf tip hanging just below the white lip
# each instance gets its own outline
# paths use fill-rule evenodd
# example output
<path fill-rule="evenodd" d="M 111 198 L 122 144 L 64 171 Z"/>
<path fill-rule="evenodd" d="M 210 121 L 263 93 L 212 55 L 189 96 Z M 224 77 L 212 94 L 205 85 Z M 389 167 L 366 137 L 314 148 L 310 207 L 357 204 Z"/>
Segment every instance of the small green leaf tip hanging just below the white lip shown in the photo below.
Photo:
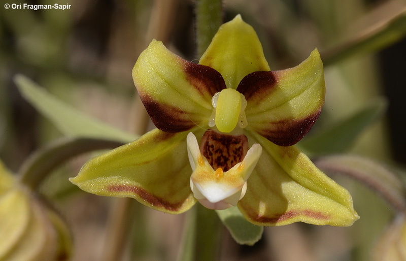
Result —
<path fill-rule="evenodd" d="M 252 246 L 261 239 L 263 226 L 248 222 L 237 207 L 216 210 L 216 212 L 235 242 Z"/>

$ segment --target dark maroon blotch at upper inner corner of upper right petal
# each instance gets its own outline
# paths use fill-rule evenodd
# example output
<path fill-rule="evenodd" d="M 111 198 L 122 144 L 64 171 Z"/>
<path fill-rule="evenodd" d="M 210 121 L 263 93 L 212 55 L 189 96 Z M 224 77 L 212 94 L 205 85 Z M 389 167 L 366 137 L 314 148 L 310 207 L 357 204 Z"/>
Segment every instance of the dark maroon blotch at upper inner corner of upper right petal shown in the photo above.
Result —
<path fill-rule="evenodd" d="M 247 102 L 250 99 L 259 102 L 273 91 L 276 83 L 277 80 L 273 72 L 258 71 L 245 76 L 237 90 L 244 95 Z"/>

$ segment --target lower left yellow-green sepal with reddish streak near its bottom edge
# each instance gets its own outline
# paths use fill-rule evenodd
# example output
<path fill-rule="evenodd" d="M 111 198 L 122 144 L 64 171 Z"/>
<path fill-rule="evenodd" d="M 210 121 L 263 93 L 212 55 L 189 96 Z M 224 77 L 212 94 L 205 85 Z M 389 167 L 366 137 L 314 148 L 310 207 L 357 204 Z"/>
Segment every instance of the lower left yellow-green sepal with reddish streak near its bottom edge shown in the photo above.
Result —
<path fill-rule="evenodd" d="M 186 136 L 154 129 L 90 159 L 70 181 L 97 195 L 134 198 L 166 213 L 184 212 L 195 203 Z"/>

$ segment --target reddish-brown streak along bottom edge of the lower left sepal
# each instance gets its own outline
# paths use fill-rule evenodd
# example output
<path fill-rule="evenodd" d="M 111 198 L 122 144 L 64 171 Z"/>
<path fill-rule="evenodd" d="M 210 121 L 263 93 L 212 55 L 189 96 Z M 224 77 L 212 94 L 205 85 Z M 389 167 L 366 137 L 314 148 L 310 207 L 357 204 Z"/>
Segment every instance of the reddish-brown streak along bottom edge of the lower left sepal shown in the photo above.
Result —
<path fill-rule="evenodd" d="M 184 202 L 170 203 L 161 198 L 154 197 L 154 195 L 151 195 L 145 189 L 137 187 L 137 186 L 123 185 L 123 184 L 109 185 L 109 186 L 107 186 L 107 190 L 109 190 L 111 192 L 126 191 L 126 192 L 136 193 L 144 201 L 148 202 L 150 205 L 157 207 L 157 208 L 164 208 L 168 211 L 173 211 L 173 212 L 179 211 L 179 209 L 182 207 L 182 205 L 184 203 Z"/>

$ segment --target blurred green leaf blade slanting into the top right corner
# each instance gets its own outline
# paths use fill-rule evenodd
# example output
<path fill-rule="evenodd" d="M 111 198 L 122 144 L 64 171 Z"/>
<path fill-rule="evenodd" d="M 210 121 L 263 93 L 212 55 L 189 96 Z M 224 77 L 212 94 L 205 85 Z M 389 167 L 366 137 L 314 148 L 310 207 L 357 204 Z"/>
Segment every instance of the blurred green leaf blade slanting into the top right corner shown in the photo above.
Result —
<path fill-rule="evenodd" d="M 378 10 L 379 11 L 379 10 Z M 384 11 L 384 10 L 381 10 Z M 381 12 L 382 13 L 382 12 Z M 376 16 L 375 20 L 376 21 Z M 406 36 L 406 7 L 402 4 L 387 17 L 376 21 L 354 38 L 322 52 L 325 66 L 354 54 L 377 52 Z"/>

